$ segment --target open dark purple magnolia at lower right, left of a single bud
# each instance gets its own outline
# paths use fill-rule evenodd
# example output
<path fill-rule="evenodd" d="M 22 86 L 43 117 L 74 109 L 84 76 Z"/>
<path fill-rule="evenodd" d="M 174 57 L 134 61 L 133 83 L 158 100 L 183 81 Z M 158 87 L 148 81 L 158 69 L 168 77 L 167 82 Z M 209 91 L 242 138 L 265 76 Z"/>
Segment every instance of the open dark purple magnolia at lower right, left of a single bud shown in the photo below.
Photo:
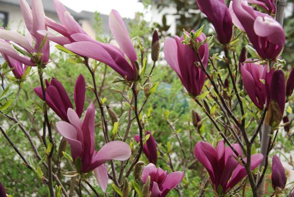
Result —
<path fill-rule="evenodd" d="M 240 145 L 232 144 L 232 146 L 242 156 Z M 235 159 L 236 154 L 230 147 L 225 148 L 223 141 L 218 143 L 217 148 L 206 142 L 198 142 L 194 149 L 194 155 L 206 168 L 211 185 L 217 194 L 226 194 L 247 175 L 245 167 Z M 244 161 L 246 162 L 246 160 L 245 158 Z M 251 170 L 254 170 L 262 160 L 262 154 L 253 154 L 251 156 Z"/>

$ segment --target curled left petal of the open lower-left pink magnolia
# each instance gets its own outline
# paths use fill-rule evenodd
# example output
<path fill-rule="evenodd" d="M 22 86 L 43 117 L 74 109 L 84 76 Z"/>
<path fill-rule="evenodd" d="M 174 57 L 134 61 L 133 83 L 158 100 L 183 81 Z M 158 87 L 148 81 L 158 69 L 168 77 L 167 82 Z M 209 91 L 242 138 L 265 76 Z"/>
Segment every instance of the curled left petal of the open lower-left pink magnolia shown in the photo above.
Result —
<path fill-rule="evenodd" d="M 77 132 L 75 128 L 70 123 L 64 121 L 57 122 L 56 128 L 58 133 L 71 145 L 73 161 L 75 161 L 76 157 L 79 157 L 82 152 L 82 144 L 77 140 Z"/>

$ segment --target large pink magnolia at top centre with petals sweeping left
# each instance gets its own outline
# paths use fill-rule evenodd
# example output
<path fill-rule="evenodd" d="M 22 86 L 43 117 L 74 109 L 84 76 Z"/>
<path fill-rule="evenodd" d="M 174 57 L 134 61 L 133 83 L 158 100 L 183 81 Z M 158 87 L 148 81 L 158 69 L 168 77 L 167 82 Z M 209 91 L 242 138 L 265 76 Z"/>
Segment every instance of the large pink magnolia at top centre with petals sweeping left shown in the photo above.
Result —
<path fill-rule="evenodd" d="M 112 10 L 109 15 L 109 28 L 122 50 L 112 44 L 100 43 L 82 33 L 71 35 L 76 42 L 64 47 L 79 55 L 105 63 L 128 81 L 136 81 L 138 79 L 137 54 L 123 19 L 116 10 Z"/>

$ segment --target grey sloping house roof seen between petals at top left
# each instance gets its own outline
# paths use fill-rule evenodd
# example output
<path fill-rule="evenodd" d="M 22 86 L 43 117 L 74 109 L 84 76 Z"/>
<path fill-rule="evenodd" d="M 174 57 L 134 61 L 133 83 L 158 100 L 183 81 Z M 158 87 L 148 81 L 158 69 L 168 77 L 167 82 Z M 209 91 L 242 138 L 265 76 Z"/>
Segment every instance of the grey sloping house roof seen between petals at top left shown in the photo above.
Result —
<path fill-rule="evenodd" d="M 29 5 L 31 5 L 31 0 L 26 0 L 28 2 Z M 19 0 L 0 0 L 0 3 L 8 3 L 8 4 L 12 4 L 12 5 L 20 5 L 20 1 Z M 44 7 L 44 11 L 45 12 L 51 12 L 51 13 L 56 13 L 55 11 L 55 7 L 53 4 L 52 0 L 42 0 L 43 3 L 43 7 Z M 66 7 L 66 9 L 71 13 L 71 15 L 74 18 L 80 19 L 81 15 L 75 11 L 73 11 L 72 9 Z"/>

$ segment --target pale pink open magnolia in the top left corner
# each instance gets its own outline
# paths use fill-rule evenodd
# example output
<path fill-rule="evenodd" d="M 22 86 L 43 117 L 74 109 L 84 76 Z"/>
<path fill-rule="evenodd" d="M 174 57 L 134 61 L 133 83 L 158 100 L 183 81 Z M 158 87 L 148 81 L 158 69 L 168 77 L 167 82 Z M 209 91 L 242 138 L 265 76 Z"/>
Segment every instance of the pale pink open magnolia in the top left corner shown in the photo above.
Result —
<path fill-rule="evenodd" d="M 0 53 L 27 66 L 35 66 L 37 63 L 42 63 L 45 66 L 49 61 L 49 41 L 45 41 L 42 46 L 44 36 L 37 33 L 38 30 L 46 29 L 42 1 L 32 0 L 32 9 L 30 9 L 26 0 L 20 0 L 20 5 L 30 36 L 25 37 L 17 32 L 0 29 L 0 39 L 16 43 L 30 56 L 21 56 L 10 44 L 5 42 L 0 42 Z M 35 42 L 34 46 L 32 46 L 33 40 Z"/>

